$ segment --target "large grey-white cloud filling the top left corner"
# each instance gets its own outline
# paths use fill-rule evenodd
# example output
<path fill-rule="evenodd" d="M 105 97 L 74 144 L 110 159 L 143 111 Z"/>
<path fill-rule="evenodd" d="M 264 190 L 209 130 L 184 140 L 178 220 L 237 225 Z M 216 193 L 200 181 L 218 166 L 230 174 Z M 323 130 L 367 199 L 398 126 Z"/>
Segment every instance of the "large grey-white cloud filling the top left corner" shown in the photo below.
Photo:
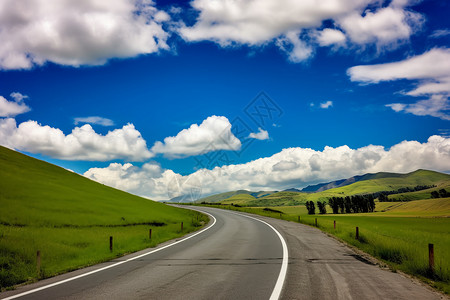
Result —
<path fill-rule="evenodd" d="M 100 65 L 168 49 L 168 19 L 151 0 L 4 0 L 0 69 Z"/>

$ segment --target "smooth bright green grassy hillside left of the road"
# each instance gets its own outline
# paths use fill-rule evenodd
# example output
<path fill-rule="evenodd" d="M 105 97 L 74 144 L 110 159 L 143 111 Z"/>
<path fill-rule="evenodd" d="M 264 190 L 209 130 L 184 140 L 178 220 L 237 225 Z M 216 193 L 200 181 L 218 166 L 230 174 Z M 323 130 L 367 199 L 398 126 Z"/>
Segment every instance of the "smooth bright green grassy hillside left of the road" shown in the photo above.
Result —
<path fill-rule="evenodd" d="M 155 246 L 195 230 L 197 218 L 207 221 L 4 147 L 0 207 L 0 288 Z M 109 236 L 114 237 L 112 252 Z"/>

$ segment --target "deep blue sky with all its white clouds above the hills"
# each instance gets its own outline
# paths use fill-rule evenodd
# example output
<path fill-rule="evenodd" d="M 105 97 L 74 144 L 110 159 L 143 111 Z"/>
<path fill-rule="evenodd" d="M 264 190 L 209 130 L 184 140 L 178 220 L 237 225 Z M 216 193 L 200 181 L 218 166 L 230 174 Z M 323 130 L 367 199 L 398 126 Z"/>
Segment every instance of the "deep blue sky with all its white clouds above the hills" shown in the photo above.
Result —
<path fill-rule="evenodd" d="M 450 172 L 450 3 L 4 0 L 0 145 L 154 200 Z"/>

